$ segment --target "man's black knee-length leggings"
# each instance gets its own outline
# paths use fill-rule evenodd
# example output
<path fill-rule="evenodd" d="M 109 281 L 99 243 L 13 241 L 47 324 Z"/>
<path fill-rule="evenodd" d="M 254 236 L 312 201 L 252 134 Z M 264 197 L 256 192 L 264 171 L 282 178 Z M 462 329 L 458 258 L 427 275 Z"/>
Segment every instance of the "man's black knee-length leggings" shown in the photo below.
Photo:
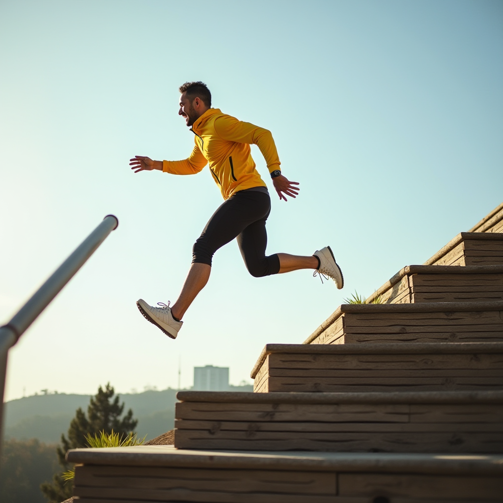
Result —
<path fill-rule="evenodd" d="M 192 263 L 211 266 L 215 251 L 237 237 L 241 256 L 252 276 L 278 274 L 279 257 L 266 257 L 266 220 L 270 212 L 269 194 L 249 189 L 236 192 L 209 219 L 192 248 Z"/>

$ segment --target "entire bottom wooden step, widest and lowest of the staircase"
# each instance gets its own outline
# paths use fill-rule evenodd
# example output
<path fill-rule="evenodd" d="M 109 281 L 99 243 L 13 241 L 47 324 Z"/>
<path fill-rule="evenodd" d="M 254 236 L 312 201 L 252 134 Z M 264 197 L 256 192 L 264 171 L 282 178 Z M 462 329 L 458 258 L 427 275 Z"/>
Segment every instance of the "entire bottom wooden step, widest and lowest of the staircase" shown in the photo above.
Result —
<path fill-rule="evenodd" d="M 75 449 L 79 503 L 495 503 L 497 455 Z M 376 499 L 380 498 L 380 499 Z"/>

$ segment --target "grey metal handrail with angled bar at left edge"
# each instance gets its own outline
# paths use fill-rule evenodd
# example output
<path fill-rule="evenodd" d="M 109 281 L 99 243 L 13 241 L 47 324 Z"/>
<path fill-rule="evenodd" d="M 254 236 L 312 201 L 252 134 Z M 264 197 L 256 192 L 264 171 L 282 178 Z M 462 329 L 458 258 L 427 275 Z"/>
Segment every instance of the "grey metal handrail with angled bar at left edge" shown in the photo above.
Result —
<path fill-rule="evenodd" d="M 2 455 L 4 391 L 9 350 L 19 341 L 24 331 L 37 319 L 37 316 L 49 305 L 52 299 L 118 225 L 119 219 L 115 215 L 107 215 L 103 222 L 77 246 L 75 251 L 52 273 L 49 279 L 32 295 L 30 300 L 12 319 L 0 327 L 0 392 L 2 393 L 2 401 L 0 402 L 0 456 Z"/>

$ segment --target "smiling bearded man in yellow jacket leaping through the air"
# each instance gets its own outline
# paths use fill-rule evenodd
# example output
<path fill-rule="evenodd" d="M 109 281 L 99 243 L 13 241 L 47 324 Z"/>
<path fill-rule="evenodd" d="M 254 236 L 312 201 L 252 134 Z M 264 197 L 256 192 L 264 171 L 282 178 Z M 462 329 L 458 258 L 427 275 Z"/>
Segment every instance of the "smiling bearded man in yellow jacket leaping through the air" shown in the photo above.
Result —
<path fill-rule="evenodd" d="M 274 188 L 280 200 L 298 195 L 299 185 L 281 174 L 280 160 L 273 137 L 267 129 L 241 122 L 211 108 L 211 93 L 203 82 L 186 82 L 180 87 L 178 112 L 194 133 L 195 146 L 185 160 L 158 161 L 136 155 L 130 159 L 134 173 L 159 170 L 173 175 L 199 173 L 207 163 L 225 202 L 210 218 L 193 247 L 192 265 L 175 304 L 158 302 L 161 307 L 136 302 L 143 316 L 167 336 L 176 339 L 182 317 L 210 277 L 215 251 L 237 238 L 241 256 L 249 273 L 255 277 L 314 269 L 314 274 L 330 277 L 337 288 L 344 286 L 341 269 L 329 246 L 312 256 L 279 253 L 266 257 L 266 220 L 271 211 L 267 185 L 251 158 L 250 144 L 258 145 L 266 159 Z M 321 280 L 323 281 L 323 280 Z"/>

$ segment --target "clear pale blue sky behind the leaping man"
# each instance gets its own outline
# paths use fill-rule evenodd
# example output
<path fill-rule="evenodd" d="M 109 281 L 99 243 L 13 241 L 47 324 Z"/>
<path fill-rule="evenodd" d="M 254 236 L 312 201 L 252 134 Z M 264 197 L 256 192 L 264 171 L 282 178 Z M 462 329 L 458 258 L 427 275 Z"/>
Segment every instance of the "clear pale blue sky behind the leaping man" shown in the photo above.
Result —
<path fill-rule="evenodd" d="M 503 3 L 0 3 L 0 321 L 107 213 L 120 225 L 11 351 L 6 398 L 249 380 L 266 343 L 301 343 L 343 298 L 421 264 L 503 200 Z M 185 158 L 178 86 L 270 129 L 297 200 L 273 196 L 268 253 L 330 244 L 346 287 L 252 278 L 235 242 L 176 341 L 137 311 L 174 301 L 221 203 L 197 176 L 130 173 Z M 258 169 L 270 184 L 260 151 Z"/>

